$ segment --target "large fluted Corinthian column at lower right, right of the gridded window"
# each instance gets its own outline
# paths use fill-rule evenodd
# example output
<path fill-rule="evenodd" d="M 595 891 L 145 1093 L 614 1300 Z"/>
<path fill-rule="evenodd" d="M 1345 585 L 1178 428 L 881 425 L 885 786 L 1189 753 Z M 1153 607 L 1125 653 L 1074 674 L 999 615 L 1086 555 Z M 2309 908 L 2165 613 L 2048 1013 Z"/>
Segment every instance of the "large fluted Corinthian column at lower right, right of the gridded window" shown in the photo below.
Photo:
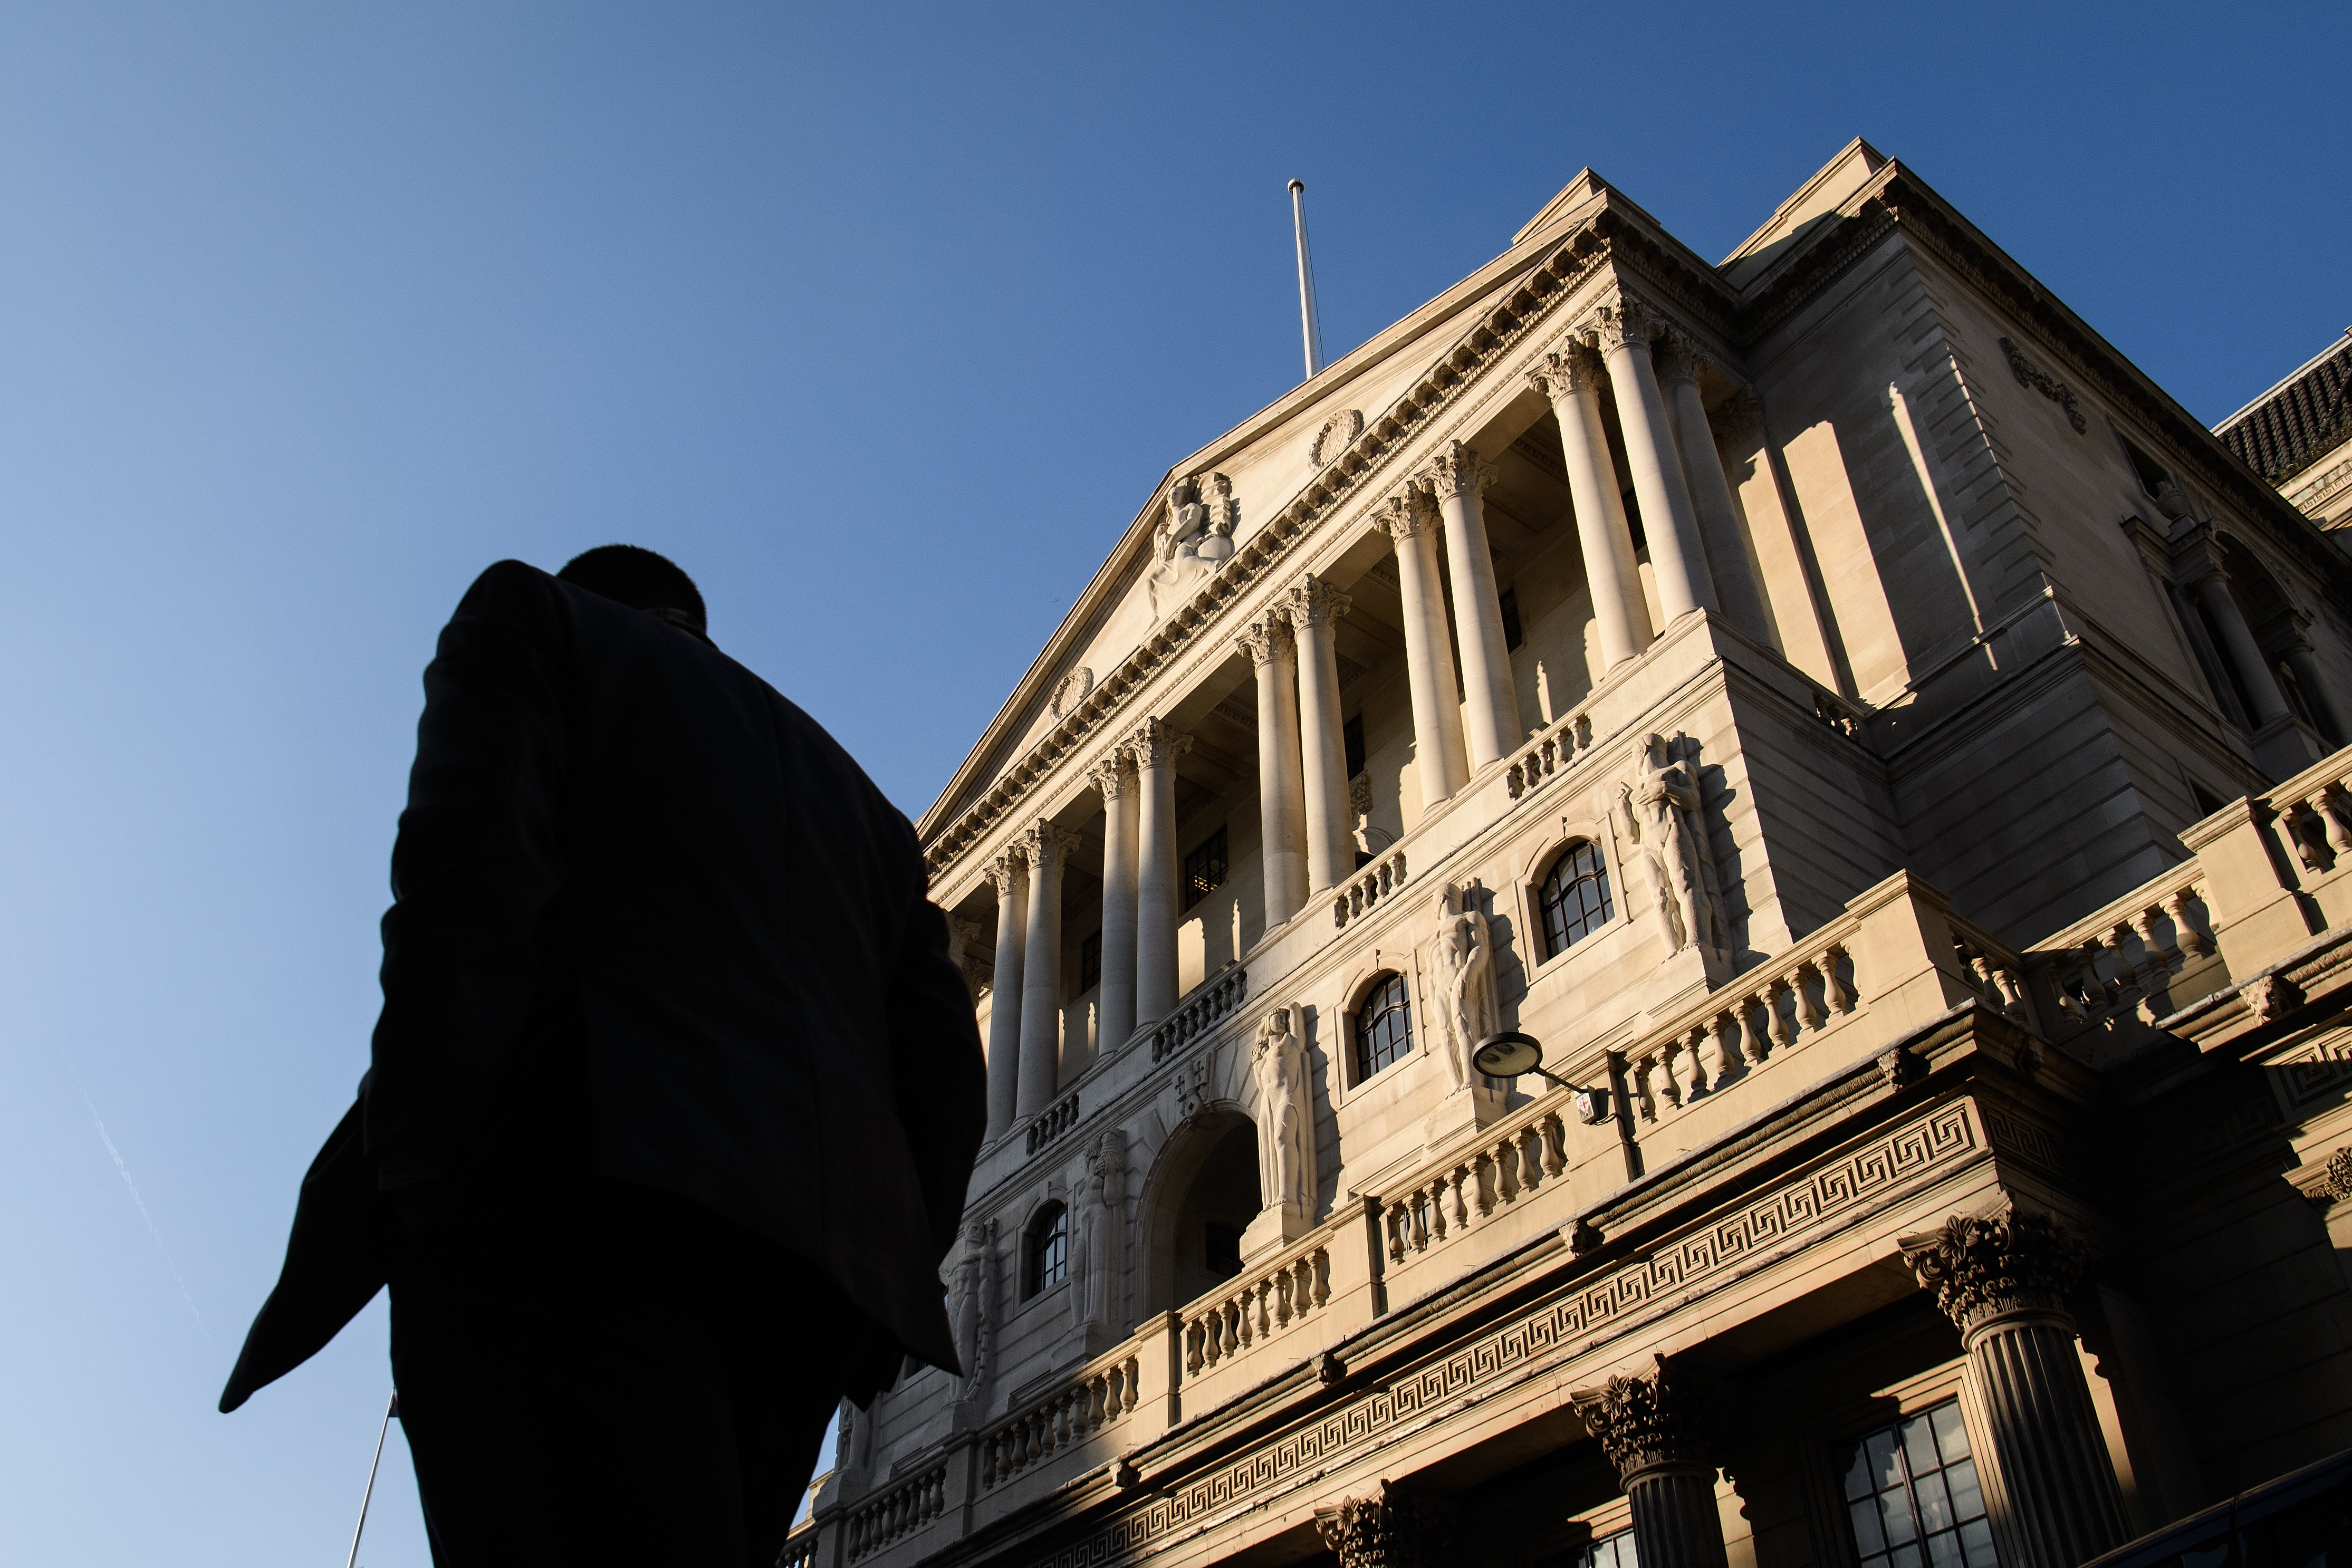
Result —
<path fill-rule="evenodd" d="M 2082 1241 L 2046 1215 L 2009 1208 L 1952 1215 L 1900 1246 L 1969 1347 L 2002 1462 L 1992 1528 L 2006 1537 L 2004 1561 L 2077 1568 L 2114 1547 L 2124 1502 L 2065 1309 L 2084 1269 Z"/>

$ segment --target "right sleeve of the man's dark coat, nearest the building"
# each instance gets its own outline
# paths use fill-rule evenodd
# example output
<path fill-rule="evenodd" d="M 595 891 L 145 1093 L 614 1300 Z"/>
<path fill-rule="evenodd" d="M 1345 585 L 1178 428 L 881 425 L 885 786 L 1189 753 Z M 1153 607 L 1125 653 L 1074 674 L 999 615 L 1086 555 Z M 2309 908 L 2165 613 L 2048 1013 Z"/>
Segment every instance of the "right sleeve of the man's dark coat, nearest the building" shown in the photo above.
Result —
<path fill-rule="evenodd" d="M 948 959 L 948 917 L 924 898 L 915 863 L 913 912 L 889 985 L 891 1091 L 922 1180 L 931 1253 L 946 1258 L 964 1222 L 971 1161 L 988 1133 L 988 1067 L 962 971 Z"/>

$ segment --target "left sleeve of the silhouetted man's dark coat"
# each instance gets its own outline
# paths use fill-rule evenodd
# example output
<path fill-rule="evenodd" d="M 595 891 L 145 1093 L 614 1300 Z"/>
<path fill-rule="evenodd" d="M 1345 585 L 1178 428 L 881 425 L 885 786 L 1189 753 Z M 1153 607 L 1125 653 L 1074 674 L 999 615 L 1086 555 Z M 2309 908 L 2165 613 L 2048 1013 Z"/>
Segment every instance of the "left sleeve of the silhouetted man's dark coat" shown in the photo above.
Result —
<path fill-rule="evenodd" d="M 546 983 L 543 924 L 564 879 L 564 646 L 548 578 L 499 562 L 426 668 L 367 1093 L 383 1187 L 447 1175 L 470 1152 Z"/>

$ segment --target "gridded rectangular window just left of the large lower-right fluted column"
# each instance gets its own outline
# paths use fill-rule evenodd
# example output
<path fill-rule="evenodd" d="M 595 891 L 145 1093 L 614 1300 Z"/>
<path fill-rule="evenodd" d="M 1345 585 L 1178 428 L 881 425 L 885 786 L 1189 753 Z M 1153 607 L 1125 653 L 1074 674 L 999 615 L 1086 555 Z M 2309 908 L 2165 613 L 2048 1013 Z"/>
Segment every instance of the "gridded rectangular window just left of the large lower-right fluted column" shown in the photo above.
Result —
<path fill-rule="evenodd" d="M 1853 1439 L 1837 1467 L 1860 1568 L 1999 1568 L 1957 1399 Z"/>

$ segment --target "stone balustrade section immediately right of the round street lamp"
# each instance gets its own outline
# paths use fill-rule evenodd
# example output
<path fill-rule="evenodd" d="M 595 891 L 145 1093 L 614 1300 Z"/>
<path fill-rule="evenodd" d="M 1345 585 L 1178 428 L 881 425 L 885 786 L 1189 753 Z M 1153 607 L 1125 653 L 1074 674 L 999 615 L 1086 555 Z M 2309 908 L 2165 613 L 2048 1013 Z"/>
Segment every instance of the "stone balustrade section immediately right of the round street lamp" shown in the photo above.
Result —
<path fill-rule="evenodd" d="M 1632 1112 L 1663 1121 L 1722 1093 L 1776 1051 L 1844 1023 L 1856 1006 L 1849 952 L 1856 929 L 1853 917 L 1830 922 L 1635 1044 L 1625 1053 Z"/>

